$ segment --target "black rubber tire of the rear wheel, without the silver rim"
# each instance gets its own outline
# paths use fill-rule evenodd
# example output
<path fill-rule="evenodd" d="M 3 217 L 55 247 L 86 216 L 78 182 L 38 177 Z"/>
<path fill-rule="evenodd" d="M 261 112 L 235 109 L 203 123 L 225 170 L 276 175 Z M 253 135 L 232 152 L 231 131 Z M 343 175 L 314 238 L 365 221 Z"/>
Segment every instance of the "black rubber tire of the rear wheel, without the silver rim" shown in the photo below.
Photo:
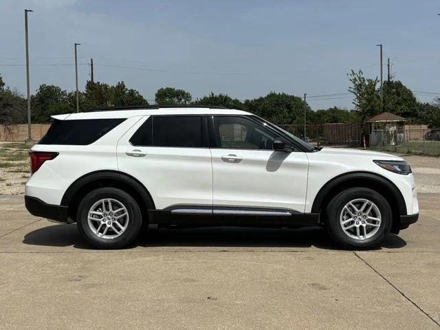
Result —
<path fill-rule="evenodd" d="M 114 239 L 102 239 L 96 236 L 89 228 L 87 221 L 88 212 L 91 206 L 93 206 L 96 201 L 107 198 L 120 201 L 124 204 L 129 213 L 128 227 L 120 236 L 115 237 Z M 94 245 L 94 247 L 100 249 L 118 249 L 124 248 L 126 245 L 132 243 L 137 234 L 139 234 L 142 225 L 142 215 L 135 199 L 133 199 L 128 193 L 124 192 L 124 190 L 118 188 L 98 188 L 85 195 L 80 202 L 76 221 L 80 233 L 89 243 L 91 243 L 91 245 Z"/>

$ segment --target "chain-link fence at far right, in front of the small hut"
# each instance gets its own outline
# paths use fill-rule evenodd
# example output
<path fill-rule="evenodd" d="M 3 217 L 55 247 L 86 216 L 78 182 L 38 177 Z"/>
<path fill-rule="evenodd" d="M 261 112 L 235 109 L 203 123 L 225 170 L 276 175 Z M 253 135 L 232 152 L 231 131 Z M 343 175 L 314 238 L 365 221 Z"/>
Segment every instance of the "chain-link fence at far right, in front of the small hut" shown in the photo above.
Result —
<path fill-rule="evenodd" d="M 370 147 L 396 153 L 440 155 L 440 129 L 383 129 L 370 133 Z"/>

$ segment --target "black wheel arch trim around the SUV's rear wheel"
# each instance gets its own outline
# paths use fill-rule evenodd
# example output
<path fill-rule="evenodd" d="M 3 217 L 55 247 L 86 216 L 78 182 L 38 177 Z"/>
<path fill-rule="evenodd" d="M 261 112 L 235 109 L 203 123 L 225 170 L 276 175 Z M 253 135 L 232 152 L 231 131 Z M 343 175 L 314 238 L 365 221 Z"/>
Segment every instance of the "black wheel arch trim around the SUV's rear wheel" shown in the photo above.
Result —
<path fill-rule="evenodd" d="M 79 177 L 65 191 L 61 206 L 67 206 L 68 217 L 76 221 L 76 210 L 87 192 L 108 186 L 120 188 L 132 195 L 140 206 L 143 219 L 147 219 L 148 210 L 155 210 L 153 197 L 147 188 L 131 175 L 117 170 L 97 170 Z"/>

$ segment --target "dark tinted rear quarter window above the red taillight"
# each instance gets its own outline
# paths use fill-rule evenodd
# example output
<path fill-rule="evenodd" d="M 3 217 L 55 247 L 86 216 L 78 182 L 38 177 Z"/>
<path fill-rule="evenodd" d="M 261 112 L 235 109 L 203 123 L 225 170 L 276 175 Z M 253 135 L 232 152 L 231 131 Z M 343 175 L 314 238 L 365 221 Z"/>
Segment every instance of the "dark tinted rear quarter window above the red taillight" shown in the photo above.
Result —
<path fill-rule="evenodd" d="M 125 119 L 54 120 L 39 144 L 85 146 L 109 133 Z"/>

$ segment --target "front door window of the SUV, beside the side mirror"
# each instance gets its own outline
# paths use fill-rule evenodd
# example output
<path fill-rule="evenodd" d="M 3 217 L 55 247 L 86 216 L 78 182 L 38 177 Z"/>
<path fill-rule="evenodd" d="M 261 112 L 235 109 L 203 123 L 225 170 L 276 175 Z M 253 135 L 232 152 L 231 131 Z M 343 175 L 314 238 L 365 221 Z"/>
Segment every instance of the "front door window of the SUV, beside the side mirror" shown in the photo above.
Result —
<path fill-rule="evenodd" d="M 272 150 L 276 135 L 243 117 L 214 117 L 219 148 Z"/>

